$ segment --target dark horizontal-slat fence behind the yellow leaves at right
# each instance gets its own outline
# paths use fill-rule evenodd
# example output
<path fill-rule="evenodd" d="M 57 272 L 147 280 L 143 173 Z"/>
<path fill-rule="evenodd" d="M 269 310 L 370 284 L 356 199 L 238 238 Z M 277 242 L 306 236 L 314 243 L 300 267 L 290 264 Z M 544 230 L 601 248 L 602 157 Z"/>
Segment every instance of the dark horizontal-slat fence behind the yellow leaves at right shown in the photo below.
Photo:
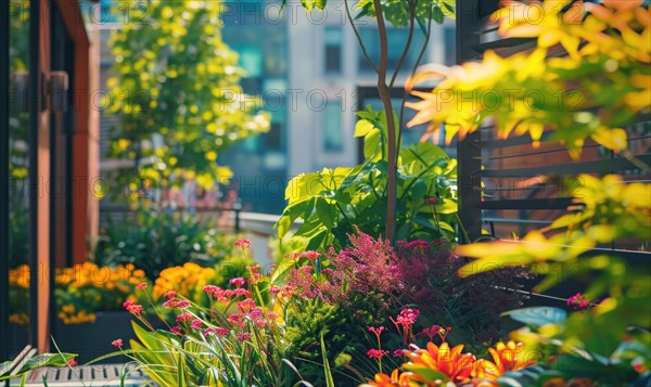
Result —
<path fill-rule="evenodd" d="M 498 3 L 457 0 L 458 63 L 478 61 L 487 50 L 510 56 L 535 47 L 534 39 L 502 39 L 497 35 L 496 26 L 487 18 L 497 10 Z M 554 56 L 564 54 L 562 49 L 553 53 Z M 647 151 L 651 140 L 649 120 L 650 117 L 640 116 L 627 128 L 629 150 L 647 164 L 651 163 Z M 471 240 L 482 236 L 482 229 L 496 238 L 507 240 L 513 232 L 522 235 L 529 230 L 541 229 L 560 215 L 567 214 L 572 198 L 561 188 L 559 177 L 620 173 L 627 182 L 649 181 L 651 178 L 629 159 L 596 143 L 587 143 L 582 159 L 573 160 L 564 146 L 546 143 L 549 132 L 544 134 L 541 146 L 537 150 L 529 145 L 528 136 L 505 140 L 495 133 L 495 126 L 487 121 L 480 130 L 458 142 L 459 217 Z M 648 266 L 651 254 L 635 249 L 630 241 L 621 241 L 591 253 L 607 251 Z M 565 284 L 563 288 L 552 289 L 546 295 L 533 296 L 557 299 L 556 304 L 560 306 L 563 296 L 574 291 L 572 285 Z M 536 298 L 537 301 L 539 298 Z M 545 304 L 545 300 L 541 302 Z"/>

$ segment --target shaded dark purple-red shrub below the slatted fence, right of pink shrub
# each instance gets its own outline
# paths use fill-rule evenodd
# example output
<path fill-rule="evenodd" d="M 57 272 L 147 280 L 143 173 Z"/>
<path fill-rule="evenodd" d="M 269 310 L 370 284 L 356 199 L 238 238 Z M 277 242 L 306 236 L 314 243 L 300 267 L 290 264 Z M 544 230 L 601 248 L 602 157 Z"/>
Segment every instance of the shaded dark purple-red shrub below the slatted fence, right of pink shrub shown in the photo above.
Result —
<path fill-rule="evenodd" d="M 520 308 L 525 299 L 513 292 L 528 279 L 524 267 L 462 279 L 458 270 L 465 259 L 443 241 L 399 242 L 396 261 L 403 302 L 418 305 L 432 323 L 454 327 L 458 341 L 492 343 L 501 337 L 500 313 Z"/>

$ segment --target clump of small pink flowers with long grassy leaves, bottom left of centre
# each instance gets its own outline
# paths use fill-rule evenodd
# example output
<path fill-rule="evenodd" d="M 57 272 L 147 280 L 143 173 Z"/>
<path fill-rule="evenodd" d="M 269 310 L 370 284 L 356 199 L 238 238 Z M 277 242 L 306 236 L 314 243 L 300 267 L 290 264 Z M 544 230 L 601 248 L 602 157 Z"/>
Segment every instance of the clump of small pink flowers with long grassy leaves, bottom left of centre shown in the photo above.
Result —
<path fill-rule="evenodd" d="M 140 362 L 162 386 L 280 386 L 299 378 L 288 360 L 284 318 L 264 301 L 268 279 L 256 275 L 257 268 L 248 270 L 248 280 L 232 278 L 225 287 L 205 284 L 203 305 L 175 291 L 165 292 L 164 301 L 152 308 L 159 318 L 171 311 L 167 330 L 154 330 L 142 305 L 125 302 L 149 331 L 133 324 L 139 341 L 132 340 L 131 350 L 122 353 Z M 139 292 L 149 289 L 143 286 Z M 148 295 L 148 299 L 152 298 Z M 113 345 L 123 350 L 120 338 Z"/>

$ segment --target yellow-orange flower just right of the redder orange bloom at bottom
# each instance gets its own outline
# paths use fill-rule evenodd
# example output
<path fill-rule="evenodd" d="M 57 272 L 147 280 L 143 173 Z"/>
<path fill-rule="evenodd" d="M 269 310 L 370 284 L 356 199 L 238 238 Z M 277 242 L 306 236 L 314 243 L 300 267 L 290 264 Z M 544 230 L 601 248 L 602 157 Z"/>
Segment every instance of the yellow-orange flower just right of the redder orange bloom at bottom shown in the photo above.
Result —
<path fill-rule="evenodd" d="M 472 376 L 483 377 L 487 379 L 497 379 L 499 376 L 509 371 L 522 370 L 533 365 L 535 362 L 523 360 L 521 353 L 522 343 L 509 340 L 507 344 L 498 343 L 495 348 L 488 348 L 490 360 L 478 360 L 473 364 Z"/>

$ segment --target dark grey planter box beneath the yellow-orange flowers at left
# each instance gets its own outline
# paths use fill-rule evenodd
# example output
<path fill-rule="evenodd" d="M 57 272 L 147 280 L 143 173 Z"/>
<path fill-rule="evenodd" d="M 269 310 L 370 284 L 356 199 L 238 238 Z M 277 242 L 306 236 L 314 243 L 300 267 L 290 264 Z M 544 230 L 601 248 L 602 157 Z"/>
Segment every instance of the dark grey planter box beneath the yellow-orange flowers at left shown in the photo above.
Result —
<path fill-rule="evenodd" d="M 94 323 L 69 324 L 56 319 L 52 336 L 62 352 L 79 353 L 77 361 L 84 364 L 90 360 L 115 352 L 111 341 L 122 338 L 124 349 L 129 348 L 129 339 L 136 338 L 131 327 L 131 313 L 127 311 L 97 312 Z M 55 348 L 52 346 L 52 351 Z M 126 357 L 110 358 L 102 363 L 125 363 Z"/>

